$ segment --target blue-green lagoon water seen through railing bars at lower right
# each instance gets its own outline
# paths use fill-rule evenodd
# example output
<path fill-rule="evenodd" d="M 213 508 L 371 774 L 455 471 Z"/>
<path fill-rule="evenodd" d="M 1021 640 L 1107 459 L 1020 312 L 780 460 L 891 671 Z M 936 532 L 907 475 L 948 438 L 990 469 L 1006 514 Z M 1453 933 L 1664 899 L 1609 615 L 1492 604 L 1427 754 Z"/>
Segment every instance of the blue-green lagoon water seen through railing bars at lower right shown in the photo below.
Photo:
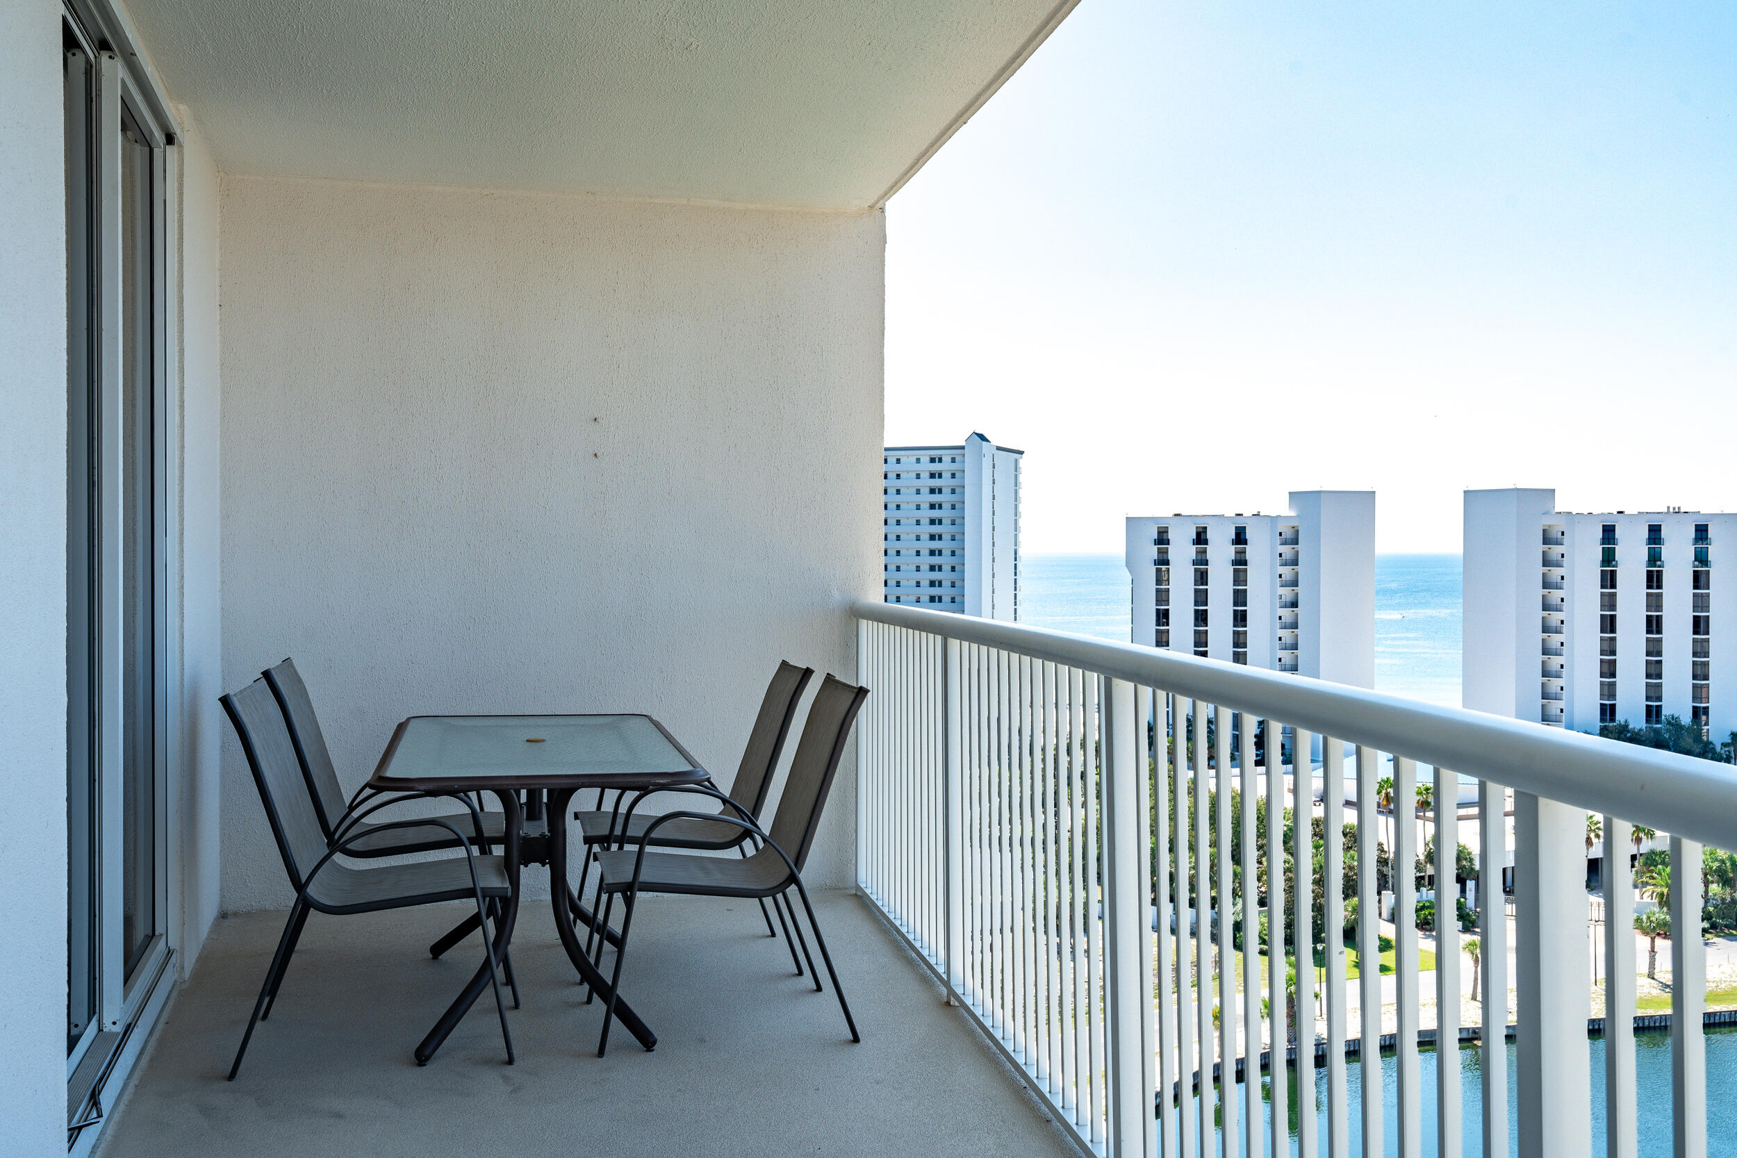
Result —
<path fill-rule="evenodd" d="M 1737 1026 L 1709 1026 L 1706 1031 L 1707 1042 L 1707 1155 L 1709 1158 L 1737 1158 Z M 1593 1101 L 1593 1155 L 1605 1153 L 1605 1043 L 1603 1038 L 1595 1038 L 1588 1043 L 1591 1047 L 1591 1101 Z M 1419 1076 L 1423 1087 L 1421 1108 L 1423 1108 L 1423 1153 L 1435 1155 L 1435 1068 L 1436 1052 L 1433 1049 L 1419 1050 Z M 1362 1097 L 1364 1097 L 1364 1066 L 1360 1061 L 1348 1059 L 1346 1066 L 1346 1104 L 1350 1113 L 1350 1146 L 1348 1153 L 1360 1153 L 1362 1149 Z M 1291 1080 L 1287 1106 L 1291 1106 L 1291 1153 L 1298 1151 L 1298 1120 L 1296 1120 L 1296 1071 L 1287 1071 Z M 1671 1035 L 1669 1033 L 1636 1033 L 1635 1035 L 1635 1076 L 1640 1089 L 1636 1101 L 1636 1120 L 1640 1134 L 1640 1155 L 1641 1158 L 1668 1158 L 1671 1155 Z M 1461 1139 L 1464 1153 L 1483 1153 L 1482 1132 L 1483 1132 L 1483 1095 L 1482 1095 L 1482 1050 L 1466 1043 L 1459 1049 L 1459 1095 L 1461 1095 Z M 1384 1054 L 1381 1059 L 1381 1085 L 1383 1085 L 1383 1104 L 1386 1106 L 1384 1125 L 1383 1125 L 1383 1149 L 1386 1153 L 1397 1153 L 1398 1142 L 1395 1141 L 1395 1130 L 1398 1128 L 1397 1118 L 1397 1082 L 1398 1082 L 1398 1061 L 1393 1054 Z M 1235 1087 L 1235 1099 L 1238 1108 L 1238 1120 L 1242 1118 L 1242 1085 Z M 1317 1127 L 1320 1135 L 1320 1146 L 1317 1153 L 1327 1153 L 1327 1075 L 1318 1071 L 1315 1075 L 1315 1106 L 1317 1106 Z M 1509 1153 L 1518 1149 L 1518 1123 L 1515 1120 L 1516 1092 L 1515 1092 L 1515 1043 L 1508 1042 L 1508 1137 Z M 1190 1113 L 1199 1115 L 1199 1101 L 1190 1099 Z M 1193 1118 L 1199 1122 L 1199 1116 Z M 1247 1146 L 1245 1122 L 1238 1125 L 1238 1135 L 1242 1144 Z M 1268 1076 L 1261 1076 L 1261 1130 L 1266 1137 L 1266 1130 L 1271 1128 L 1271 1083 Z M 1214 1134 L 1218 1130 L 1214 1128 Z M 1214 1148 L 1216 1151 L 1216 1148 Z M 1263 1153 L 1256 1148 L 1249 1153 Z"/>

